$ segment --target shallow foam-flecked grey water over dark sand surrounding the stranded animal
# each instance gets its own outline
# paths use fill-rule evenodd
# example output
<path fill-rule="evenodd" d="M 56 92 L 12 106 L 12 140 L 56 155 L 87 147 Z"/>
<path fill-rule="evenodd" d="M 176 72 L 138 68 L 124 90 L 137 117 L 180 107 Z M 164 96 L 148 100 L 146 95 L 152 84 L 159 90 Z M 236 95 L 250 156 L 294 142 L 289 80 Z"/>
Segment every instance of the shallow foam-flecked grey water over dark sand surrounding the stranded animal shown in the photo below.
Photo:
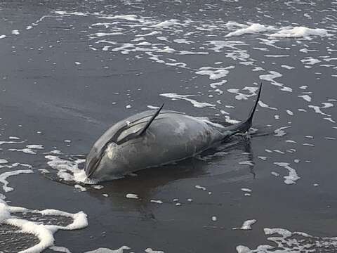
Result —
<path fill-rule="evenodd" d="M 58 226 L 46 252 L 336 251 L 336 13 L 337 1 L 1 1 L 0 252 L 41 241 L 8 215 Z M 81 182 L 114 122 L 161 103 L 244 119 L 261 81 L 252 134 Z M 32 211 L 44 209 L 66 213 Z"/>

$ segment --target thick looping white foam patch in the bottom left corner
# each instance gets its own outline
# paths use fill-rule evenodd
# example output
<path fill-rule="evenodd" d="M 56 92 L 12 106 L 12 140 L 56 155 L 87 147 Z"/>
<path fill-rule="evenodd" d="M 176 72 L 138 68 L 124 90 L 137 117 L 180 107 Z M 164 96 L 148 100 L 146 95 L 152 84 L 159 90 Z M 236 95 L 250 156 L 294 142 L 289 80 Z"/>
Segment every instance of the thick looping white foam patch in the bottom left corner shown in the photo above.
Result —
<path fill-rule="evenodd" d="M 43 224 L 41 222 L 27 221 L 25 219 L 19 219 L 11 214 L 15 213 L 33 213 L 41 214 L 42 216 L 53 215 L 53 216 L 65 216 L 73 219 L 72 223 L 67 226 L 58 226 Z M 46 210 L 31 210 L 23 207 L 11 207 L 8 206 L 6 202 L 0 200 L 0 223 L 5 223 L 11 226 L 16 226 L 20 228 L 21 233 L 30 233 L 39 238 L 39 243 L 28 249 L 21 251 L 22 253 L 34 253 L 42 252 L 44 249 L 53 246 L 54 238 L 53 234 L 58 230 L 75 230 L 80 228 L 85 228 L 88 226 L 88 220 L 86 219 L 86 214 L 84 212 L 78 212 L 77 214 L 70 214 L 67 212 L 62 212 L 54 209 Z"/>

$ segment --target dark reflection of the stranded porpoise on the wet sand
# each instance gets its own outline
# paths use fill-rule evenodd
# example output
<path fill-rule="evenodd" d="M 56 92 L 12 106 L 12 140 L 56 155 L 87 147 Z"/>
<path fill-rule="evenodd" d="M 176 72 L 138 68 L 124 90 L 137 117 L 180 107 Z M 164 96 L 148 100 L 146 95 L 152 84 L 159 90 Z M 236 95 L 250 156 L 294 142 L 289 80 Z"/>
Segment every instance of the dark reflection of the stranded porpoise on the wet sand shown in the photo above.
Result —
<path fill-rule="evenodd" d="M 163 167 L 143 169 L 123 179 L 100 183 L 104 186 L 102 190 L 88 188 L 88 193 L 98 199 L 110 201 L 113 207 L 129 207 L 143 212 L 147 206 L 153 205 L 150 200 L 154 195 L 174 181 L 214 176 L 216 182 L 220 183 L 254 178 L 254 165 L 242 166 L 238 163 L 241 160 L 253 160 L 250 138 L 244 135 L 234 136 L 229 142 L 207 150 L 198 157 Z M 233 172 L 234 177 L 230 176 Z M 126 198 L 128 193 L 138 195 L 139 200 Z"/>

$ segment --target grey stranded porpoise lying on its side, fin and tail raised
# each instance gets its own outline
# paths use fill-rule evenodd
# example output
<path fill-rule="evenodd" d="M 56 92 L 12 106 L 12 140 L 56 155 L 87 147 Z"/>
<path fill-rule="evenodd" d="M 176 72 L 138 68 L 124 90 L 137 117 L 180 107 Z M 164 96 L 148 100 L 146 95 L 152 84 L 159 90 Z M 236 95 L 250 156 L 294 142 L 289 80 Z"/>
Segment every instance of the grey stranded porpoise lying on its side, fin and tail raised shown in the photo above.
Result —
<path fill-rule="evenodd" d="M 194 157 L 234 134 L 246 132 L 252 124 L 261 86 L 249 118 L 232 126 L 161 108 L 121 120 L 91 148 L 86 157 L 86 175 L 99 181 L 117 179 L 133 171 Z"/>

